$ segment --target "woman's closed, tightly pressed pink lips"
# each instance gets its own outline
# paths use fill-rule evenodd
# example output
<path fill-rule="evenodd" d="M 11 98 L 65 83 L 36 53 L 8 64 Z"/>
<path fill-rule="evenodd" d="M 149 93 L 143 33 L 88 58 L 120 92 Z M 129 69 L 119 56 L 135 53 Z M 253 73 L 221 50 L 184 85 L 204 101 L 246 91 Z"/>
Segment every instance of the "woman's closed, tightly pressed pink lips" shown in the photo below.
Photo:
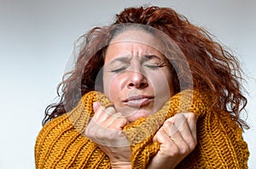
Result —
<path fill-rule="evenodd" d="M 153 96 L 135 95 L 135 96 L 130 96 L 129 98 L 123 100 L 122 102 L 125 105 L 131 106 L 131 107 L 143 107 L 145 105 L 150 104 L 150 102 L 153 99 L 154 99 Z"/>

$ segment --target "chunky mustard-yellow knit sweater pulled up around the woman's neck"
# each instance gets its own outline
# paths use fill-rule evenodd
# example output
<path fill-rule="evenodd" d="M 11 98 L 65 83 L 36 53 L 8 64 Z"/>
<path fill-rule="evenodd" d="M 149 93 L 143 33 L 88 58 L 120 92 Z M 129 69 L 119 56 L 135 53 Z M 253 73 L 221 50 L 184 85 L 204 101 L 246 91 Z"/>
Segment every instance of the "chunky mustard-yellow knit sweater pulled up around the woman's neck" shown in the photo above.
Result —
<path fill-rule="evenodd" d="M 49 121 L 38 134 L 35 161 L 38 169 L 111 168 L 108 155 L 84 136 L 84 129 L 94 115 L 92 104 L 112 104 L 101 93 L 84 94 L 70 112 Z M 147 168 L 150 158 L 160 149 L 152 141 L 166 118 L 179 112 L 193 112 L 197 117 L 197 145 L 176 168 L 247 168 L 248 149 L 241 128 L 230 115 L 210 110 L 207 95 L 185 90 L 177 93 L 154 115 L 139 118 L 123 132 L 131 143 L 132 168 Z"/>

